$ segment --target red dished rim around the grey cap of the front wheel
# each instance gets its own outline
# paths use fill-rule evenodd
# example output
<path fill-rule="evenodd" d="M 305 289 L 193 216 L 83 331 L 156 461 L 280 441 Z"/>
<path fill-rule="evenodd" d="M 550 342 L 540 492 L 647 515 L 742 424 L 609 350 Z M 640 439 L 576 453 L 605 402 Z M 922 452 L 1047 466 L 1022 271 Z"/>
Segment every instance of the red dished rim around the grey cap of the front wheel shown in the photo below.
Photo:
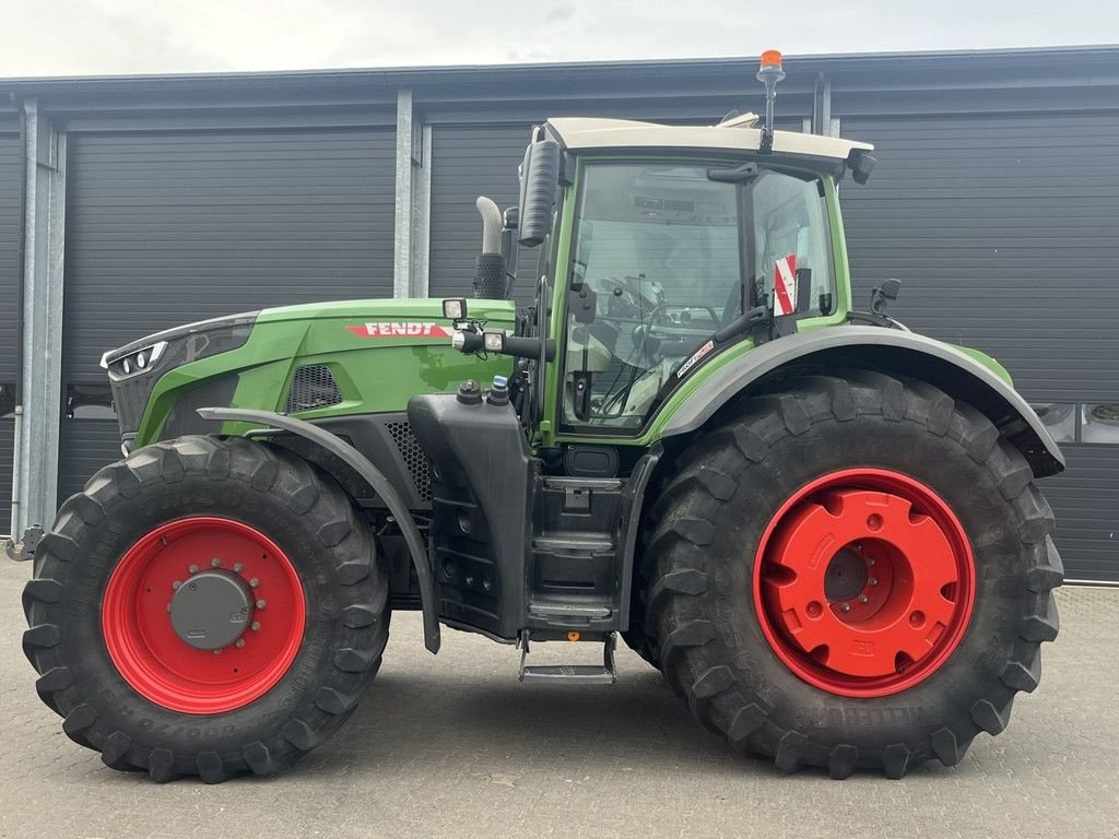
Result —
<path fill-rule="evenodd" d="M 171 625 L 170 602 L 194 573 L 222 569 L 255 598 L 237 642 L 196 649 Z M 253 585 L 255 583 L 255 585 Z M 141 696 L 186 714 L 220 714 L 258 699 L 288 672 L 307 607 L 291 560 L 262 532 L 232 519 L 179 519 L 143 536 L 113 569 L 101 628 L 117 671 Z"/>

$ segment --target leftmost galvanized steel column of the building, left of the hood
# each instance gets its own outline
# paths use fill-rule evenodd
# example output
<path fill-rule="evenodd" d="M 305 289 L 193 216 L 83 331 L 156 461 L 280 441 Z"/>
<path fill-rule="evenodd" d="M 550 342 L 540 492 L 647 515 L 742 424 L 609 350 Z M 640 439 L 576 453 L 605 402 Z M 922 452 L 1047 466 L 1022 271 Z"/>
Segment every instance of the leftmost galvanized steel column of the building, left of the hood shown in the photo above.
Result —
<path fill-rule="evenodd" d="M 12 470 L 13 539 L 34 525 L 49 527 L 54 519 L 62 414 L 66 134 L 54 131 L 37 101 L 26 101 L 23 109 L 23 365 Z"/>

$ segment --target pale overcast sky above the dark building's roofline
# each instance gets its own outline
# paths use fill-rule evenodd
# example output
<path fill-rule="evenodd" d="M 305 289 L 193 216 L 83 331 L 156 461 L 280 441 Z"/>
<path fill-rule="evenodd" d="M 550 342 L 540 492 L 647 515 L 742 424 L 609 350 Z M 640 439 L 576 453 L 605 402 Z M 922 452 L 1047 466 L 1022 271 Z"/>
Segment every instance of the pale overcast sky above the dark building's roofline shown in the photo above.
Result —
<path fill-rule="evenodd" d="M 0 77 L 1119 43 L 1115 0 L 2 0 Z"/>

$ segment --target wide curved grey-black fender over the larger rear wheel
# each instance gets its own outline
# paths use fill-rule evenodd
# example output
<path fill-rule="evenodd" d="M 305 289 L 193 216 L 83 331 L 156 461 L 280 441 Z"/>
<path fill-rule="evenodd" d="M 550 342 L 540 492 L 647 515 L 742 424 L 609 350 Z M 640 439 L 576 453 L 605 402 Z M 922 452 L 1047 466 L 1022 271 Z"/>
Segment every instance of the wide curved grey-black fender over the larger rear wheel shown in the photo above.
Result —
<path fill-rule="evenodd" d="M 882 327 L 825 327 L 763 343 L 704 380 L 665 425 L 662 437 L 700 428 L 735 396 L 788 367 L 862 368 L 928 381 L 981 411 L 1029 461 L 1034 477 L 1064 471 L 1064 455 L 1041 417 L 1004 379 L 948 343 Z"/>

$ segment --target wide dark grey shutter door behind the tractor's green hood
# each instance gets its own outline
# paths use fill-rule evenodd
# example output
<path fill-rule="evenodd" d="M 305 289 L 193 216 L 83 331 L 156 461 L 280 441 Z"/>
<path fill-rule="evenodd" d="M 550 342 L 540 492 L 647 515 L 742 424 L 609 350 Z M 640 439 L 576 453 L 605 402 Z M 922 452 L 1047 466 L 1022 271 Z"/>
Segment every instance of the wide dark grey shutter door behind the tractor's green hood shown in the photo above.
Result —
<path fill-rule="evenodd" d="M 72 135 L 64 386 L 177 323 L 391 296 L 394 161 L 379 129 Z M 70 423 L 60 493 L 120 456 L 111 423 Z"/>

